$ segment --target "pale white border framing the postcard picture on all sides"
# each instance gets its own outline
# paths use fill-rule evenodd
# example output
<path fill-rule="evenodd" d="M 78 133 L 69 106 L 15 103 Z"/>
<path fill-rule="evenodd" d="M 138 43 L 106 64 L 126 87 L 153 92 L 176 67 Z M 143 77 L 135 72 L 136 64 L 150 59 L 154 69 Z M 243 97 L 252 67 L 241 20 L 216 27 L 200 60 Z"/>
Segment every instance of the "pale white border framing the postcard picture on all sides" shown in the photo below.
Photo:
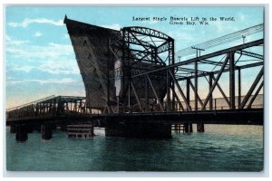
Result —
<path fill-rule="evenodd" d="M 156 4 L 159 3 L 158 1 L 152 0 L 152 1 L 146 1 L 146 0 L 132 0 L 130 1 L 131 4 L 128 4 L 127 1 L 125 0 L 115 0 L 114 1 L 114 6 L 128 6 L 128 5 L 139 5 L 141 4 L 141 6 L 146 6 L 146 5 L 151 5 L 151 4 Z M 26 2 L 24 2 L 24 5 L 45 5 L 45 4 L 51 4 L 51 5 L 65 5 L 65 3 L 69 3 L 69 5 L 79 5 L 79 4 L 84 4 L 86 5 L 88 3 L 88 5 L 90 4 L 88 1 L 83 1 L 83 0 L 77 0 L 77 1 L 73 1 L 73 2 L 63 2 L 63 1 L 53 1 L 53 0 L 47 0 L 47 1 L 34 1 L 34 0 L 28 0 Z M 107 0 L 94 0 L 92 1 L 92 4 L 96 4 L 96 5 L 112 5 L 113 1 L 107 1 Z M 269 176 L 269 163 L 271 163 L 271 157 L 269 157 L 269 140 L 271 140 L 271 135 L 269 135 L 269 131 L 271 130 L 271 125 L 269 124 L 269 108 L 270 108 L 270 97 L 269 97 L 269 88 L 271 86 L 271 84 L 269 84 L 269 80 L 270 80 L 270 75 L 269 75 L 269 70 L 271 70 L 271 63 L 269 63 L 269 43 L 271 43 L 271 38 L 269 37 L 269 33 L 268 30 L 271 30 L 270 24 L 269 24 L 269 19 L 270 18 L 270 11 L 269 11 L 269 7 L 270 7 L 270 0 L 258 0 L 257 2 L 249 2 L 248 0 L 231 0 L 231 1 L 224 1 L 224 4 L 219 4 L 219 1 L 215 1 L 215 0 L 206 0 L 205 3 L 209 3 L 209 4 L 203 4 L 203 1 L 200 0 L 190 0 L 187 2 L 180 2 L 180 1 L 174 1 L 174 0 L 167 0 L 165 2 L 160 2 L 160 6 L 165 6 L 165 5 L 170 5 L 170 4 L 174 4 L 174 5 L 178 5 L 181 3 L 185 3 L 183 4 L 183 6 L 223 6 L 223 5 L 230 5 L 230 6 L 238 6 L 238 5 L 242 5 L 242 4 L 246 4 L 246 6 L 248 6 L 247 3 L 251 3 L 254 5 L 260 5 L 260 4 L 267 4 L 266 6 L 266 17 L 265 17 L 265 44 L 266 44 L 266 49 L 265 49 L 265 57 L 266 57 L 266 61 L 265 61 L 265 170 L 263 173 L 228 173 L 228 172 L 205 172 L 205 173 L 199 173 L 199 172 L 6 172 L 5 171 L 5 127 L 4 124 L 0 124 L 0 130 L 2 129 L 3 131 L 1 132 L 1 138 L 3 140 L 3 145 L 2 148 L 0 149 L 0 159 L 2 158 L 2 160 L 4 160 L 3 163 L 0 162 L 0 169 L 1 169 L 1 174 L 3 176 L 22 176 L 22 178 L 9 178 L 9 177 L 4 177 L 4 180 L 10 180 L 10 179 L 20 179 L 20 180 L 29 180 L 29 179 L 37 179 L 34 178 L 35 177 L 41 177 L 44 176 L 44 178 L 38 178 L 38 179 L 48 179 L 46 178 L 47 176 L 50 177 L 61 177 L 61 176 L 65 176 L 65 177 L 70 177 L 70 178 L 65 178 L 65 180 L 74 180 L 74 177 L 81 177 L 81 179 L 88 179 L 90 180 L 90 178 L 86 178 L 89 176 L 94 176 L 96 177 L 95 179 L 98 179 L 98 177 L 114 177 L 113 180 L 127 180 L 127 178 L 125 177 L 136 177 L 134 179 L 139 179 L 137 177 L 179 177 L 182 176 L 184 178 L 181 179 L 186 179 L 186 180 L 195 180 L 195 179 L 201 179 L 201 180 L 218 180 L 220 177 L 220 179 L 222 180 L 229 180 L 229 179 L 233 179 L 233 178 L 229 178 L 229 177 L 237 177 L 236 179 L 245 179 L 245 180 L 268 180 L 270 178 Z M 189 3 L 189 4 L 186 4 Z M 12 5 L 12 4 L 17 4 L 17 5 L 22 5 L 22 1 L 19 0 L 13 0 L 13 1 L 7 1 L 4 0 L 3 1 L 3 5 L 1 6 L 1 14 L 3 18 L 1 18 L 1 23 L 3 24 L 3 29 L 1 29 L 1 37 L 2 37 L 2 41 L 0 43 L 0 46 L 3 47 L 3 49 L 1 50 L 1 54 L 4 53 L 4 31 L 5 31 L 5 5 Z M 213 5 L 210 5 L 213 4 Z M 249 5 L 250 6 L 250 5 Z M 252 6 L 252 5 L 251 5 Z M 2 56 L 3 58 L 3 56 Z M 5 81 L 5 62 L 4 62 L 4 58 L 2 59 L 3 61 L 0 63 L 1 69 L 3 71 L 1 71 L 1 92 L 0 92 L 0 101 L 2 102 L 2 104 L 0 104 L 0 110 L 1 110 L 1 114 L 0 114 L 0 118 L 2 118 L 2 121 L 5 122 L 5 83 L 2 83 Z M 3 77 L 2 77 L 3 76 Z M 225 177 L 222 177 L 225 176 Z M 27 177 L 32 177 L 32 178 L 27 178 Z M 85 177 L 85 178 L 83 178 Z M 122 178 L 118 178 L 118 177 L 122 177 Z M 185 178 L 188 177 L 188 178 Z M 193 178 L 193 177 L 198 177 L 198 178 Z M 246 178 L 248 177 L 248 178 Z M 257 178 L 259 177 L 259 178 Z M 262 178 L 260 178 L 262 177 Z M 93 179 L 93 178 L 92 178 Z M 112 178 L 111 178 L 112 179 Z M 160 179 L 160 178 L 156 178 L 156 181 Z M 179 179 L 179 178 L 169 178 L 169 179 Z"/>

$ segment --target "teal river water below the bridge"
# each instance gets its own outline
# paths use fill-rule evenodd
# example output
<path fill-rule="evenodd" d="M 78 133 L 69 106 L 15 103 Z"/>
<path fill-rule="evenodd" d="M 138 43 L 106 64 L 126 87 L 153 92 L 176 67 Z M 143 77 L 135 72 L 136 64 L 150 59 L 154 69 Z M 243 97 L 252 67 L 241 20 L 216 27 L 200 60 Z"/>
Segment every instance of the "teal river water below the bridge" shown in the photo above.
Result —
<path fill-rule="evenodd" d="M 263 127 L 205 125 L 205 132 L 173 138 L 68 138 L 24 143 L 6 129 L 6 167 L 18 171 L 261 171 Z"/>

